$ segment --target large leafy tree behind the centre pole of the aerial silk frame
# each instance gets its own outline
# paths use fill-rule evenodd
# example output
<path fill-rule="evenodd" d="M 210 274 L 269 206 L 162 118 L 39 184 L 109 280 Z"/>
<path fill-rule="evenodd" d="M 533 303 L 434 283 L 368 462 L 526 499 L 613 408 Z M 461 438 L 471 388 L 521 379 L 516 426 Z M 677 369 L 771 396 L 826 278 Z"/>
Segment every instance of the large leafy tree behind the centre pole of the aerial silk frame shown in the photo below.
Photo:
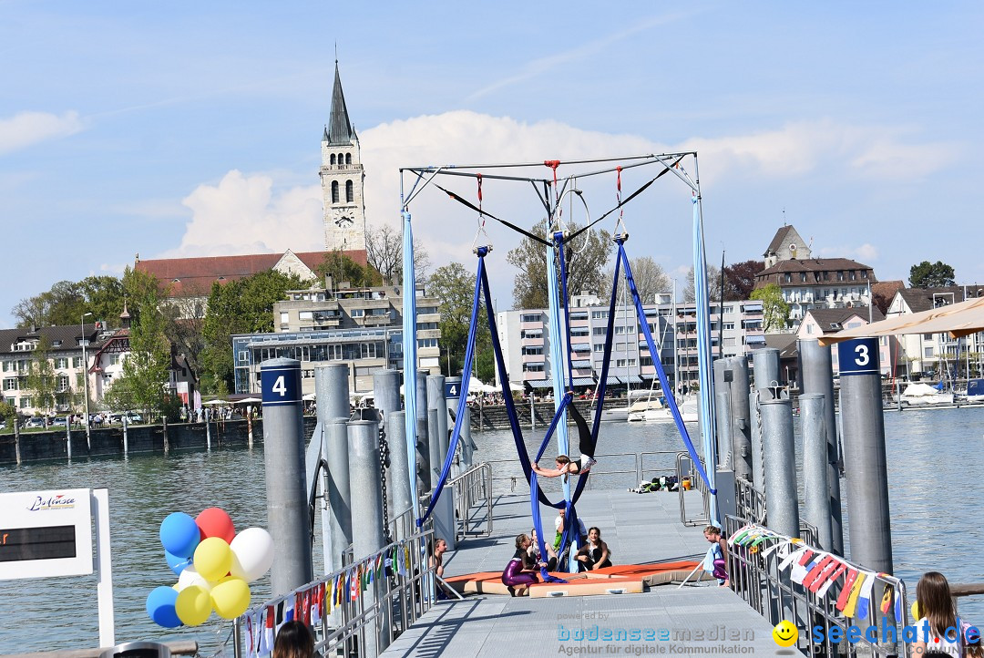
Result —
<path fill-rule="evenodd" d="M 578 230 L 577 224 L 571 230 Z M 545 236 L 547 220 L 541 219 L 529 231 L 533 235 Z M 611 236 L 608 231 L 586 231 L 574 244 L 564 248 L 567 260 L 567 289 L 572 295 L 582 292 L 605 290 L 604 270 L 611 249 Z M 513 285 L 513 305 L 517 309 L 542 309 L 549 306 L 547 299 L 547 261 L 546 247 L 529 238 L 506 255 L 506 261 L 520 271 Z M 558 276 L 560 268 L 557 268 Z M 610 279 L 609 279 L 610 280 Z M 607 284 L 604 296 L 608 296 L 611 284 Z M 562 302 L 563 303 L 563 302 Z"/>

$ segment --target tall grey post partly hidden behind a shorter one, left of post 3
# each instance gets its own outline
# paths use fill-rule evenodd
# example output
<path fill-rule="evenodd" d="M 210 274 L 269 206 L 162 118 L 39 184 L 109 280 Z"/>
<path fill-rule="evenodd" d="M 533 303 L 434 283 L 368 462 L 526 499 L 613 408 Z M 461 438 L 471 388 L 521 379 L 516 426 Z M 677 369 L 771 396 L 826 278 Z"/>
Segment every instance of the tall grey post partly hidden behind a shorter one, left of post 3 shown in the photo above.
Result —
<path fill-rule="evenodd" d="M 797 340 L 800 360 L 800 378 L 804 393 L 824 396 L 824 416 L 816 422 L 823 425 L 827 435 L 827 489 L 830 497 L 830 548 L 836 555 L 844 554 L 843 515 L 840 506 L 840 450 L 837 448 L 837 416 L 833 396 L 833 362 L 830 346 L 822 346 L 817 340 Z M 800 396 L 802 399 L 802 395 Z M 802 425 L 802 421 L 801 421 Z M 819 526 L 818 526 L 819 527 Z"/>

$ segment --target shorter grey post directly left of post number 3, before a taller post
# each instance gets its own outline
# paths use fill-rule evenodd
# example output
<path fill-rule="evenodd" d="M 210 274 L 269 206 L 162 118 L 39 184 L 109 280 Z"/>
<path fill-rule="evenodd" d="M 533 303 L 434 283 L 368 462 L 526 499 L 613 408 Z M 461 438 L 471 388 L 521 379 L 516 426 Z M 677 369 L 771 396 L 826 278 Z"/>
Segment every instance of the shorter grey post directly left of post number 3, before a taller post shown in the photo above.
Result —
<path fill-rule="evenodd" d="M 820 548 L 831 551 L 830 495 L 827 486 L 827 400 L 821 393 L 803 393 L 799 399 L 800 429 L 803 433 L 804 515 L 817 526 Z"/>

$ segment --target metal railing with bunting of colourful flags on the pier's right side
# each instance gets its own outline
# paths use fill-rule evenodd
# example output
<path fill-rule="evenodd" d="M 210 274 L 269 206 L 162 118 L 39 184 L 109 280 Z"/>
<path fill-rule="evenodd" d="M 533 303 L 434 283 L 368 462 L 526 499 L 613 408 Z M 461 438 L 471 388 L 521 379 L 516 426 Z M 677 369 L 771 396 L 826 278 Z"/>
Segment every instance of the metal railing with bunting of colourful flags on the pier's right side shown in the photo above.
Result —
<path fill-rule="evenodd" d="M 807 655 L 909 655 L 904 582 L 824 553 L 813 530 L 794 539 L 731 515 L 724 529 L 731 588 L 770 626 L 794 625 Z"/>

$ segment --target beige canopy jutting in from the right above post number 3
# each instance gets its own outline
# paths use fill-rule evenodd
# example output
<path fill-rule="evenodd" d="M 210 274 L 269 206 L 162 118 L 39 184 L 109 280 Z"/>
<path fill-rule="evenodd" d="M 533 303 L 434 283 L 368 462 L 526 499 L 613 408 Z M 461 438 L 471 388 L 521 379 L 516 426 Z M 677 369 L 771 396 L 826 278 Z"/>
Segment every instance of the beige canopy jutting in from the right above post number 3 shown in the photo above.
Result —
<path fill-rule="evenodd" d="M 850 338 L 944 331 L 953 338 L 959 338 L 982 330 L 984 330 L 984 298 L 977 297 L 929 311 L 889 318 L 855 329 L 844 329 L 821 336 L 819 341 L 821 345 L 830 345 Z"/>

